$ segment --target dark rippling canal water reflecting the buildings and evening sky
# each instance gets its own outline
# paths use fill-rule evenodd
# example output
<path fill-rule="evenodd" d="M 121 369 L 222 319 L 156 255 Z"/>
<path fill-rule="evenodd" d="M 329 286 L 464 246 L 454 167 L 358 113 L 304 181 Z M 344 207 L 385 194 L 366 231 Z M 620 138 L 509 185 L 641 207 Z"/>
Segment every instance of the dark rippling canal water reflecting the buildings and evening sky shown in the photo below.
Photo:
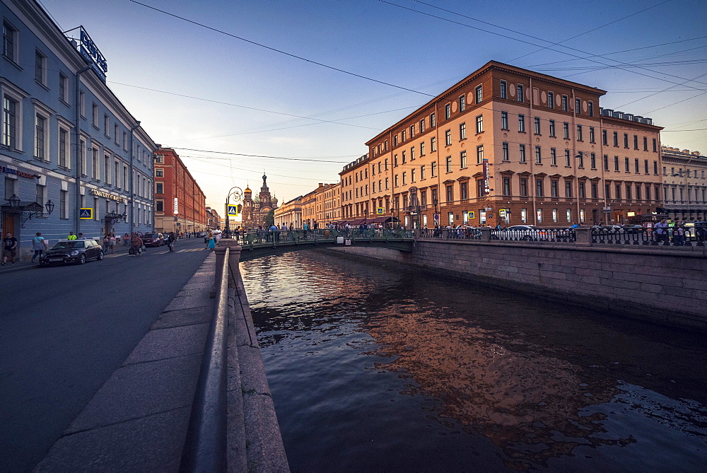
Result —
<path fill-rule="evenodd" d="M 327 251 L 241 268 L 293 471 L 705 471 L 703 335 Z"/>

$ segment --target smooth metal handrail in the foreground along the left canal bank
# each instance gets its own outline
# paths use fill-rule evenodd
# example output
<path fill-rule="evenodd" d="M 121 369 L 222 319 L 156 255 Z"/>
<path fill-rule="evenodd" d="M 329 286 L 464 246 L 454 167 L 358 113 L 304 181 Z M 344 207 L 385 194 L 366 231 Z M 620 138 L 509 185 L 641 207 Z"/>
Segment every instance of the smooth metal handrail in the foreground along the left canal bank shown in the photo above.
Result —
<path fill-rule="evenodd" d="M 228 368 L 228 271 L 230 248 L 223 266 L 216 268 L 216 308 L 206 337 L 197 390 L 189 416 L 187 438 L 182 450 L 182 472 L 226 471 L 226 383 Z"/>

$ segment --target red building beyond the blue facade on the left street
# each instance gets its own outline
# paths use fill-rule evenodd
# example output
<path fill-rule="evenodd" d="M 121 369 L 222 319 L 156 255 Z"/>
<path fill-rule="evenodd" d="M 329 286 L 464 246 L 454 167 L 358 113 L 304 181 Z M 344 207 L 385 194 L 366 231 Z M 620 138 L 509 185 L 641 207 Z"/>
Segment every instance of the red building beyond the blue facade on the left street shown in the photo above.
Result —
<path fill-rule="evenodd" d="M 155 151 L 155 230 L 206 230 L 206 196 L 172 148 Z"/>

